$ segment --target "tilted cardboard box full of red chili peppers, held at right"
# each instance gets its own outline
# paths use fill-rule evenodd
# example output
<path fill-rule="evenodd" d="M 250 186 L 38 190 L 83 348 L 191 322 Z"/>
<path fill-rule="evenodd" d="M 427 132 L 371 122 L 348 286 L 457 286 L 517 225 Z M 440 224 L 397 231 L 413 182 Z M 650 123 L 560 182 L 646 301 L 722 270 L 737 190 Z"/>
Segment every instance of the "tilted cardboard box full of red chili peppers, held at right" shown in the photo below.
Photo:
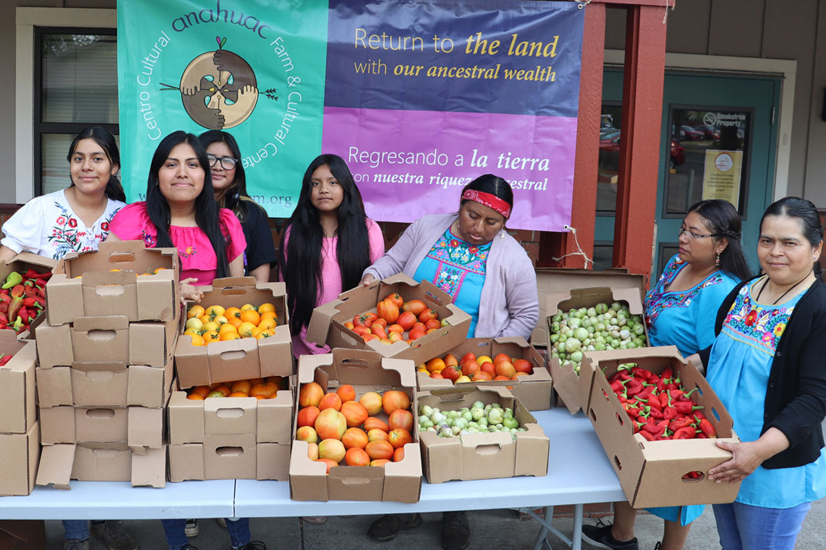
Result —
<path fill-rule="evenodd" d="M 737 483 L 708 472 L 738 443 L 719 397 L 674 346 L 585 354 L 591 392 L 583 407 L 634 508 L 732 502 Z"/>

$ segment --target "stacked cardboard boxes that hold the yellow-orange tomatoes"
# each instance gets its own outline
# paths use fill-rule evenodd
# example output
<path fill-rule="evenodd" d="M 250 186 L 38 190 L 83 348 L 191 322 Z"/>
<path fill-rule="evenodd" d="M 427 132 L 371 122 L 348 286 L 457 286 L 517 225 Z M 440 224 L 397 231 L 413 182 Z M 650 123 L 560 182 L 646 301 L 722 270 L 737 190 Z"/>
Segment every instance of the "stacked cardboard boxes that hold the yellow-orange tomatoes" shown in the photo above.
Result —
<path fill-rule="evenodd" d="M 272 303 L 274 336 L 193 346 L 180 336 L 175 348 L 178 379 L 169 400 L 169 480 L 287 480 L 290 461 L 292 385 L 272 399 L 207 397 L 194 401 L 186 389 L 249 378 L 294 374 L 292 339 L 283 283 L 252 277 L 216 279 L 205 289 L 204 307 L 241 308 Z"/>

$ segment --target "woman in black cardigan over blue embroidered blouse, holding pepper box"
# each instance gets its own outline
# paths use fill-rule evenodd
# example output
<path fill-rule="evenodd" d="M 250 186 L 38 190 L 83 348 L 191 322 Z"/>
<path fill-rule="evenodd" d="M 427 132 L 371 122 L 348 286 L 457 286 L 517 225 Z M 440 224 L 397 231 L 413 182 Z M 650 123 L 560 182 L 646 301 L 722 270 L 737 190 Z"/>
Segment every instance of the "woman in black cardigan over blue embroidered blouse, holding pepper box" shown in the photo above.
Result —
<path fill-rule="evenodd" d="M 709 471 L 717 482 L 742 480 L 736 501 L 714 505 L 724 550 L 794 548 L 810 503 L 826 496 L 822 247 L 814 204 L 771 204 L 757 245 L 765 275 L 729 295 L 710 355 L 700 354 L 743 441 L 718 443 L 733 458 Z"/>

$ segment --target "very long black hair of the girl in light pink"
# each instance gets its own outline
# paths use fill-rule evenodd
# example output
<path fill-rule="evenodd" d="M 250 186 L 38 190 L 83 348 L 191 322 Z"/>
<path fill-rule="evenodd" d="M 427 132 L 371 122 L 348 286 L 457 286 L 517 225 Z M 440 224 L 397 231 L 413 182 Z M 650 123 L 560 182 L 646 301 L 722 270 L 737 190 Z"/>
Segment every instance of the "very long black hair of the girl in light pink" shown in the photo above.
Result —
<path fill-rule="evenodd" d="M 312 174 L 325 164 L 344 191 L 338 210 L 339 227 L 336 231 L 339 243 L 335 251 L 341 271 L 341 288 L 348 290 L 357 286 L 363 271 L 370 265 L 367 217 L 353 175 L 347 163 L 338 155 L 319 155 L 304 172 L 296 209 L 284 224 L 283 235 L 286 236 L 287 228 L 290 229 L 286 254 L 283 246 L 278 251 L 278 262 L 282 266 L 284 283 L 287 284 L 287 308 L 293 334 L 298 334 L 301 327 L 309 324 L 320 294 L 324 228 L 321 227 L 318 210 L 310 202 L 310 196 Z"/>

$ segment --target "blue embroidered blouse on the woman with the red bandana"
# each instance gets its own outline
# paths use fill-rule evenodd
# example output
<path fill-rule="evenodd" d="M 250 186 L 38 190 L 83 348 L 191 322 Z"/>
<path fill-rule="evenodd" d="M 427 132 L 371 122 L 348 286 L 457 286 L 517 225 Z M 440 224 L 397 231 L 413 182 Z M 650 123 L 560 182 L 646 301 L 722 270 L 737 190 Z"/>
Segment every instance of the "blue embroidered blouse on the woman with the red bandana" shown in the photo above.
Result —
<path fill-rule="evenodd" d="M 490 250 L 490 242 L 477 247 L 455 236 L 448 228 L 415 271 L 415 280 L 429 280 L 450 294 L 456 307 L 471 316 L 470 338 L 479 320 L 479 299 Z"/>

